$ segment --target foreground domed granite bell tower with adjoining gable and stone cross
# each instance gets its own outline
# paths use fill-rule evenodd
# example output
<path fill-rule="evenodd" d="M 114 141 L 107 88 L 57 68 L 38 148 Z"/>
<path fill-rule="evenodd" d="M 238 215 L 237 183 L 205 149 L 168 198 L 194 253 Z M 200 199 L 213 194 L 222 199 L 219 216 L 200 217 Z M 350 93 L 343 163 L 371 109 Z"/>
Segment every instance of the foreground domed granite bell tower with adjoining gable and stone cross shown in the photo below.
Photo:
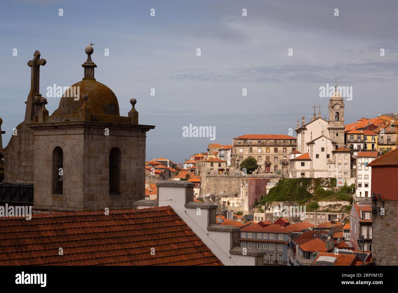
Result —
<path fill-rule="evenodd" d="M 85 51 L 84 78 L 52 115 L 39 94 L 38 68 L 46 61 L 36 51 L 28 63 L 35 68 L 31 92 L 25 121 L 4 149 L 4 181 L 34 184 L 34 212 L 133 208 L 145 198 L 146 132 L 154 126 L 138 124 L 134 98 L 120 116 L 113 91 L 94 78 L 94 49 Z M 72 96 L 75 88 L 80 96 Z"/>

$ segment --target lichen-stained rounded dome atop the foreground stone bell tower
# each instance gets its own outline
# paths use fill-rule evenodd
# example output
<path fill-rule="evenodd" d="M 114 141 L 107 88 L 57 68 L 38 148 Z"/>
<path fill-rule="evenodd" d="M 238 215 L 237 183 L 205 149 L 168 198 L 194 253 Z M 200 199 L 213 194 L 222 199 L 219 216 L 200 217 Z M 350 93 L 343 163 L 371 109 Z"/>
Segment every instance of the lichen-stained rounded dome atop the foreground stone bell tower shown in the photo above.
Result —
<path fill-rule="evenodd" d="M 73 97 L 66 97 L 66 94 L 64 94 L 59 102 L 58 109 L 54 111 L 53 115 L 78 114 L 84 103 L 82 96 L 88 94 L 87 105 L 91 108 L 92 114 L 120 116 L 116 95 L 106 85 L 99 83 L 95 79 L 83 79 L 72 85 L 70 89 L 73 90 L 73 87 L 79 87 L 79 100 L 74 100 Z"/>

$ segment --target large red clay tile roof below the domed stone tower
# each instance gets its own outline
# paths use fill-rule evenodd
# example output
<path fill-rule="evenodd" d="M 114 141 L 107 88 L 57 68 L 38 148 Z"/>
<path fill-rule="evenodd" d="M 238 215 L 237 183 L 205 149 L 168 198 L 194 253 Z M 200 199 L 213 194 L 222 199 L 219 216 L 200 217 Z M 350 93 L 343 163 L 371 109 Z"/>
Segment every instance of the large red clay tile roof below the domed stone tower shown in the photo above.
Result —
<path fill-rule="evenodd" d="M 0 265 L 222 265 L 170 206 L 8 217 L 0 226 Z"/>

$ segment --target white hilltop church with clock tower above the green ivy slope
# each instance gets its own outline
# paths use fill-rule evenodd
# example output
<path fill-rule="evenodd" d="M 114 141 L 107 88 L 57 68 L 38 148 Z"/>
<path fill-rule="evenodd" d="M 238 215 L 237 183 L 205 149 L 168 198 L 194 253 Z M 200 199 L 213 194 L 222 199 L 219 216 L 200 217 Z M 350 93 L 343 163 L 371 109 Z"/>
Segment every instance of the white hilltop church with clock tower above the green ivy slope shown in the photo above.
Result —
<path fill-rule="evenodd" d="M 297 120 L 297 150 L 290 154 L 290 174 L 293 178 L 351 178 L 350 150 L 344 145 L 344 102 L 337 91 L 329 100 L 329 121 L 321 117 L 301 126 Z"/>

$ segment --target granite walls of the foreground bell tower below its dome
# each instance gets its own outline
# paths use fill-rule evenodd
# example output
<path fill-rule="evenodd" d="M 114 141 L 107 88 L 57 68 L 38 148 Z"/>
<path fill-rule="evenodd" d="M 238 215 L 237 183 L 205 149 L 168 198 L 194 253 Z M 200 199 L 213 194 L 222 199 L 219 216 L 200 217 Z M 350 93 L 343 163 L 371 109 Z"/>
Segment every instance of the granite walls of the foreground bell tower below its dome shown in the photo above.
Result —
<path fill-rule="evenodd" d="M 109 136 L 105 136 L 109 128 Z M 146 132 L 134 126 L 60 125 L 35 129 L 34 206 L 54 210 L 133 208 L 145 198 Z M 52 194 L 55 147 L 63 150 L 63 194 Z M 109 153 L 121 151 L 120 194 L 109 195 Z M 96 205 L 97 204 L 97 205 Z"/>

